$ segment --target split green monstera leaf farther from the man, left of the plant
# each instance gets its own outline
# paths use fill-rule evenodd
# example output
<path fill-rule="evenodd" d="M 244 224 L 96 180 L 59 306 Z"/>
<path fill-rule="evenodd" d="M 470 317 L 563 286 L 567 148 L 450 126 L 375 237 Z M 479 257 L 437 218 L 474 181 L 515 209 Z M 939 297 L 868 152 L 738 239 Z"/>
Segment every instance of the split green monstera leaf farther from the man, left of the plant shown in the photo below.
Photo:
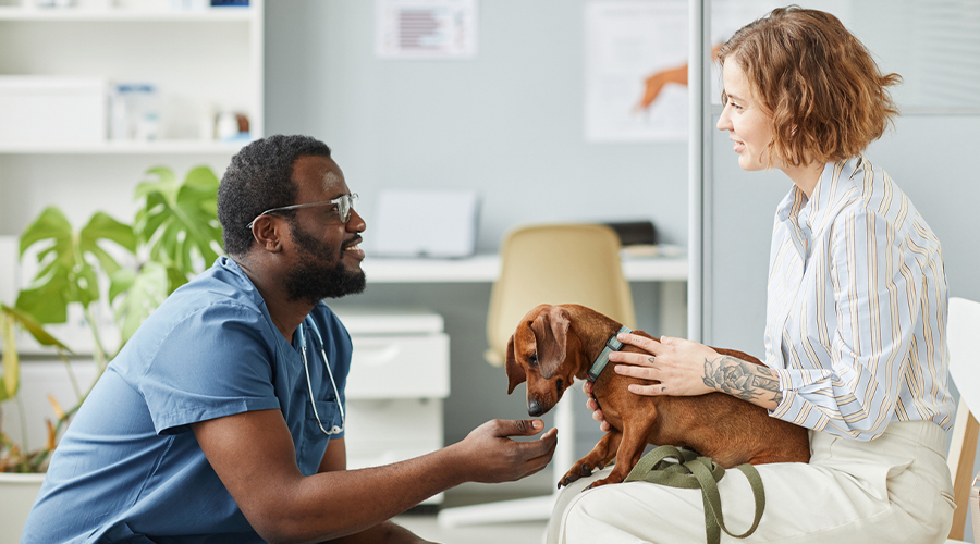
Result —
<path fill-rule="evenodd" d="M 130 252 L 136 250 L 133 228 L 106 213 L 96 213 L 75 233 L 61 210 L 45 209 L 21 235 L 21 257 L 35 244 L 47 245 L 37 254 L 41 270 L 32 286 L 17 295 L 16 308 L 39 323 L 64 323 L 72 302 L 81 302 L 87 309 L 99 298 L 97 267 L 110 275 L 120 268 L 100 247 L 103 240 Z"/>

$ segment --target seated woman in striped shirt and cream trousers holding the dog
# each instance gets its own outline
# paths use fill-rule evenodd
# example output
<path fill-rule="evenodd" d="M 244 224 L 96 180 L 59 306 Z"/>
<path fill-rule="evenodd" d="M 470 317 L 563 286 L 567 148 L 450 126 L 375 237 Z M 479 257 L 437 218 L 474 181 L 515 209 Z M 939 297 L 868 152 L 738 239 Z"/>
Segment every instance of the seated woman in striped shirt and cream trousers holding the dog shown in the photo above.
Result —
<path fill-rule="evenodd" d="M 738 164 L 779 169 L 794 184 L 775 213 L 768 368 L 696 342 L 622 335 L 649 355 L 611 355 L 614 371 L 659 382 L 630 385 L 638 395 L 719 391 L 809 429 L 809 463 L 757 467 L 765 509 L 745 542 L 944 542 L 953 401 L 942 249 L 861 154 L 897 113 L 889 88 L 899 77 L 882 74 L 836 17 L 796 7 L 738 30 L 718 59 L 718 128 Z M 550 542 L 705 542 L 699 490 L 633 482 L 580 493 L 591 480 L 563 494 Z M 730 470 L 719 489 L 725 524 L 746 531 L 747 479 Z"/>

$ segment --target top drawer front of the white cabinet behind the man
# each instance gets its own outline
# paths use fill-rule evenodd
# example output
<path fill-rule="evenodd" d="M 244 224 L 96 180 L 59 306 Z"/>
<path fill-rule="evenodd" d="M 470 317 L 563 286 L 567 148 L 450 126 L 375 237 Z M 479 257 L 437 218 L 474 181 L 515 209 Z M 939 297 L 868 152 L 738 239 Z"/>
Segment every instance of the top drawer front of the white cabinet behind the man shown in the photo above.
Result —
<path fill-rule="evenodd" d="M 449 336 L 352 336 L 346 394 L 353 398 L 445 398 Z"/>

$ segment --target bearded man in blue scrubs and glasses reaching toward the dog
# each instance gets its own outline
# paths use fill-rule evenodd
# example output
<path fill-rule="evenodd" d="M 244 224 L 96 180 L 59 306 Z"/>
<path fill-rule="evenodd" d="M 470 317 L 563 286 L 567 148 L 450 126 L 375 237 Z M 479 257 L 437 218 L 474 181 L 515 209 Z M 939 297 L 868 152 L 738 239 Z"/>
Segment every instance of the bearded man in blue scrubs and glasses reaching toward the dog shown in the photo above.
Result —
<path fill-rule="evenodd" d="M 218 190 L 228 258 L 181 287 L 101 376 L 54 452 L 22 543 L 425 542 L 390 521 L 467 481 L 541 470 L 555 431 L 490 421 L 346 471 L 351 337 L 321 301 L 365 287 L 364 219 L 322 143 L 245 146 Z"/>

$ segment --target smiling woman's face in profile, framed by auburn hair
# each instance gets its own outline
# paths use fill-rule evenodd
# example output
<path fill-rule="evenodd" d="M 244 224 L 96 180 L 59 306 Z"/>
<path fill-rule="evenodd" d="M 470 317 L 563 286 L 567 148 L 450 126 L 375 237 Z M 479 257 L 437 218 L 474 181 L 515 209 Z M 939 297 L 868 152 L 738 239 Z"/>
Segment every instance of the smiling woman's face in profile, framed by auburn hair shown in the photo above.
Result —
<path fill-rule="evenodd" d="M 738 165 L 745 171 L 765 170 L 769 163 L 767 148 L 772 141 L 772 118 L 758 101 L 745 72 L 734 60 L 722 66 L 727 103 L 718 120 L 719 131 L 728 131 L 728 139 L 738 153 Z M 779 168 L 779 164 L 773 164 Z"/>

